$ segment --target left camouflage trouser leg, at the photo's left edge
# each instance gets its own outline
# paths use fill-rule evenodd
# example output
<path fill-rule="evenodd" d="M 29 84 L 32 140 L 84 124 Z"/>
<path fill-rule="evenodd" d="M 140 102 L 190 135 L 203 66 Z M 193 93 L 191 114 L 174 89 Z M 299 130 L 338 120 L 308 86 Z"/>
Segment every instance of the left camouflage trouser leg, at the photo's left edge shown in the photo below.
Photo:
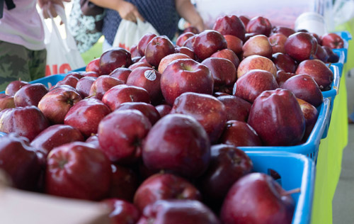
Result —
<path fill-rule="evenodd" d="M 28 49 L 0 41 L 0 91 L 17 79 L 30 81 Z"/>

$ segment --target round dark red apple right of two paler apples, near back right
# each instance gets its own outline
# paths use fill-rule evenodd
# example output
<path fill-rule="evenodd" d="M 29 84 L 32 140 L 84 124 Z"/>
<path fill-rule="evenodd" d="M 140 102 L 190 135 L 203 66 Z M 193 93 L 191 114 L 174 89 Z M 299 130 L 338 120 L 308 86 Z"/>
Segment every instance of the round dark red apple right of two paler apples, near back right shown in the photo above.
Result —
<path fill-rule="evenodd" d="M 314 58 L 317 41 L 309 33 L 297 32 L 285 41 L 285 52 L 298 62 Z"/>

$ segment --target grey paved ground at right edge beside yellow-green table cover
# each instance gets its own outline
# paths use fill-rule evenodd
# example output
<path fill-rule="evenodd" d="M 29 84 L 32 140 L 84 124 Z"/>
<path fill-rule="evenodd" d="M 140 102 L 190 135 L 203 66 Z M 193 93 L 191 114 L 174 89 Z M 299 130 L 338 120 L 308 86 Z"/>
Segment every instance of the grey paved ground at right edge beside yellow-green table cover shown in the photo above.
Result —
<path fill-rule="evenodd" d="M 354 110 L 354 71 L 347 76 L 348 113 Z M 348 128 L 348 145 L 343 151 L 341 178 L 333 198 L 333 224 L 354 223 L 354 124 Z"/>

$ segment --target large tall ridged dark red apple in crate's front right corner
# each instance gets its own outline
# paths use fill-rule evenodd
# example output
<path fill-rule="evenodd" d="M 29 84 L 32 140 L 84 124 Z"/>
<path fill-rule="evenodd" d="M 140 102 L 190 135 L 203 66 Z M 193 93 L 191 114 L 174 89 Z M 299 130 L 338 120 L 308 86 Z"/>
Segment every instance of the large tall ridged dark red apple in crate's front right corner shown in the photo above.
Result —
<path fill-rule="evenodd" d="M 264 145 L 295 145 L 305 130 L 304 115 L 291 91 L 263 91 L 253 102 L 247 121 Z"/>

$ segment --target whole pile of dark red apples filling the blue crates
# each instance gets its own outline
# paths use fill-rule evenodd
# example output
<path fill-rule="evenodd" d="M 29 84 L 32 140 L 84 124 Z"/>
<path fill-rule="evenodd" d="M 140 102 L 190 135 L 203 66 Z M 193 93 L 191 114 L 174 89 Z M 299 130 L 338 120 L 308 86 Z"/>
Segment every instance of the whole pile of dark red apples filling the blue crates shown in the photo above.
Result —
<path fill-rule="evenodd" d="M 340 47 L 263 17 L 176 45 L 148 33 L 50 89 L 9 84 L 0 168 L 18 189 L 105 200 L 115 223 L 291 223 L 291 196 L 236 147 L 305 142 Z"/>

